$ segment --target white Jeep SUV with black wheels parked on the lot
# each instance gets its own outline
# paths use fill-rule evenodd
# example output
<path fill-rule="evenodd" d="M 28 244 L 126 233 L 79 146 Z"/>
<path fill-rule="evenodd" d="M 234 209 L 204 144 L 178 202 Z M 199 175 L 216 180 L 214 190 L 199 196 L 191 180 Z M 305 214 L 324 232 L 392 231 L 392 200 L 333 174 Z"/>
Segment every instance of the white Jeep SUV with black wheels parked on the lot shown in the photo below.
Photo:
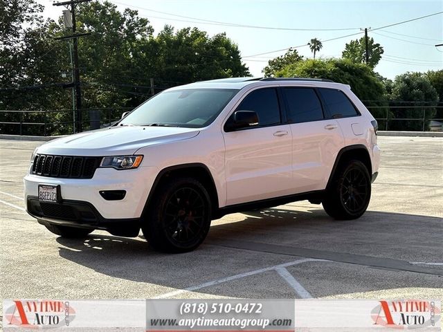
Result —
<path fill-rule="evenodd" d="M 329 80 L 197 82 L 155 95 L 112 127 L 47 142 L 26 208 L 62 237 L 93 230 L 184 252 L 224 214 L 293 201 L 356 219 L 370 201 L 377 122 Z"/>

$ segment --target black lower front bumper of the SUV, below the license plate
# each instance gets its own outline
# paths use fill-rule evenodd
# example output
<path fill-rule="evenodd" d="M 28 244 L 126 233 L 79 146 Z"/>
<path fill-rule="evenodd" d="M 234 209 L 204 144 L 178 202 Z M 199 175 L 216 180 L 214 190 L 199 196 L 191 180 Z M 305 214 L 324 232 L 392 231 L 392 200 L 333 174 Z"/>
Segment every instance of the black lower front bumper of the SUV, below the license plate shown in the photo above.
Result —
<path fill-rule="evenodd" d="M 91 204 L 84 201 L 63 200 L 62 203 L 40 202 L 37 196 L 26 197 L 26 211 L 42 225 L 66 225 L 91 230 L 106 230 L 122 237 L 136 237 L 141 219 L 106 219 Z"/>

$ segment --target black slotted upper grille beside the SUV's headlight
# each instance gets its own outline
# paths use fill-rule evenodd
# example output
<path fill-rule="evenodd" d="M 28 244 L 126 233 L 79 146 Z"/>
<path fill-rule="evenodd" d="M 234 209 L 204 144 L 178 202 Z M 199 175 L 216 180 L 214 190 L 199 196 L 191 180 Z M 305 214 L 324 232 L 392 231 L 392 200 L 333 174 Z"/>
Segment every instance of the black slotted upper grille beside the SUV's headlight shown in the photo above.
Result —
<path fill-rule="evenodd" d="M 53 178 L 92 178 L 101 157 L 49 156 L 37 154 L 33 174 Z"/>

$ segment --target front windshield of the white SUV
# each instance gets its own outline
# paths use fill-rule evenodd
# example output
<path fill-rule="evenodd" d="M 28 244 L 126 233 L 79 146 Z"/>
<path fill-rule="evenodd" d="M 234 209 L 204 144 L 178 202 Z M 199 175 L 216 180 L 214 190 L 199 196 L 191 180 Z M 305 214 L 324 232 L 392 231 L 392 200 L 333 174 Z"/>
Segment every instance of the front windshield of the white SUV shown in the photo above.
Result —
<path fill-rule="evenodd" d="M 206 127 L 237 92 L 235 89 L 165 91 L 141 104 L 118 125 Z"/>

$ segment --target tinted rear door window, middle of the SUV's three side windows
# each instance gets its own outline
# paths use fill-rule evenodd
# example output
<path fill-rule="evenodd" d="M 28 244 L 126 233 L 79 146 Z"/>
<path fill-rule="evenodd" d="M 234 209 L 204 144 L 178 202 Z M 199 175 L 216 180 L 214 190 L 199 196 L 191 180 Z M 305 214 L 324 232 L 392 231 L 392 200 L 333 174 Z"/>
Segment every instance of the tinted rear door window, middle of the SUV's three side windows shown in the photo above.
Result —
<path fill-rule="evenodd" d="M 284 88 L 289 105 L 288 120 L 308 122 L 323 120 L 323 110 L 316 91 L 310 88 Z"/>

